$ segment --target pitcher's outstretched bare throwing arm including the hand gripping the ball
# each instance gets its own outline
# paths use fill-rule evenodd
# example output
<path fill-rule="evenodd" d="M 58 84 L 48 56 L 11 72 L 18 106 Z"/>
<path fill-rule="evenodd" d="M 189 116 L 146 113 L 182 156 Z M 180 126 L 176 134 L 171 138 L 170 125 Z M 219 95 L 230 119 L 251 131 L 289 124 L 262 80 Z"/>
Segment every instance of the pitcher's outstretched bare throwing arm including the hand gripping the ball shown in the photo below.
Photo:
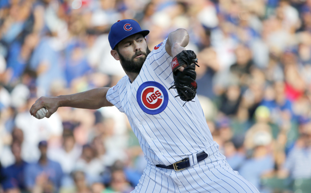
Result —
<path fill-rule="evenodd" d="M 60 95 L 55 97 L 41 96 L 30 108 L 30 114 L 35 113 L 42 107 L 48 111 L 45 117 L 49 118 L 58 107 L 68 106 L 81 109 L 99 109 L 104 106 L 113 106 L 106 99 L 108 87 L 95 88 L 85 92 L 79 92 L 71 95 Z"/>

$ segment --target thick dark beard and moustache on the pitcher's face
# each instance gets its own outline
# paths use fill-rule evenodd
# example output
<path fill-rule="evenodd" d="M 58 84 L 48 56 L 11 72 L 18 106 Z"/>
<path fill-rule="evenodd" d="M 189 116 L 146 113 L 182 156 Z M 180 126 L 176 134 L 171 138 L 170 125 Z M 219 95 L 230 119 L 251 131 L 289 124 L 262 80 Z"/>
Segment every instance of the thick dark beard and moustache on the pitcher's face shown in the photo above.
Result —
<path fill-rule="evenodd" d="M 125 59 L 120 53 L 119 50 L 117 50 L 120 58 L 120 63 L 125 72 L 130 73 L 139 73 L 141 68 L 143 67 L 143 64 L 148 56 L 148 54 L 151 52 L 147 46 L 146 52 L 143 51 L 137 51 L 135 55 L 131 59 Z M 145 56 L 142 56 L 138 58 L 138 61 L 134 61 L 134 58 L 140 54 L 144 54 Z"/>

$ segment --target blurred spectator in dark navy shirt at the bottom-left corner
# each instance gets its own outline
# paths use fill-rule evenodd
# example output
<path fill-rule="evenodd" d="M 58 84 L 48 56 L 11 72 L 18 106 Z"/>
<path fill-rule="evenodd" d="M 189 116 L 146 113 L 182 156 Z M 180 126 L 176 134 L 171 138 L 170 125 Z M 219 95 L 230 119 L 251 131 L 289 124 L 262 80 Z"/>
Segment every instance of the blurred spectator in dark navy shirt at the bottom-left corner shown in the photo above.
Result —
<path fill-rule="evenodd" d="M 11 150 L 15 158 L 15 163 L 4 168 L 3 173 L 6 179 L 2 183 L 2 187 L 4 190 L 11 187 L 18 187 L 21 190 L 25 190 L 24 170 L 28 163 L 21 158 L 21 144 L 19 142 L 13 141 Z"/>

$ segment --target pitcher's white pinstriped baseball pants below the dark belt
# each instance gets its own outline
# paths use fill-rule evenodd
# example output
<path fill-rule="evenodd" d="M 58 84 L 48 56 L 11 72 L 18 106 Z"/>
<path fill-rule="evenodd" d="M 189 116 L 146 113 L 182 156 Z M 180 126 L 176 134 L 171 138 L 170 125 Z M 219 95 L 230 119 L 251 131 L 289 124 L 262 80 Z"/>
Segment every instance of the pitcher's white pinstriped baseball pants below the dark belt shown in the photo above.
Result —
<path fill-rule="evenodd" d="M 181 171 L 148 162 L 131 193 L 258 193 L 249 181 L 233 171 L 220 153 Z"/>

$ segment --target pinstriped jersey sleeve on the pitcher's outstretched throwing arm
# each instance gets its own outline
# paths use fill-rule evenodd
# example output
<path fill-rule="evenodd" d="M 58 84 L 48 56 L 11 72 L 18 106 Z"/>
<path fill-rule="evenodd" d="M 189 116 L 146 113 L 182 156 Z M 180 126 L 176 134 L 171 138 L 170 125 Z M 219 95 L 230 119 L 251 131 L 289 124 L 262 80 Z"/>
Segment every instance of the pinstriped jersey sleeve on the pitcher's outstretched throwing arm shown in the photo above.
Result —
<path fill-rule="evenodd" d="M 125 87 L 125 80 L 126 80 L 126 76 L 121 78 L 115 86 L 111 87 L 107 91 L 107 94 L 106 94 L 107 101 L 109 101 L 111 104 L 117 107 L 117 109 L 120 112 L 124 112 L 124 109 L 121 105 L 121 100 L 120 100 L 120 94 L 121 94 L 120 91 L 122 91 L 121 88 Z"/>

